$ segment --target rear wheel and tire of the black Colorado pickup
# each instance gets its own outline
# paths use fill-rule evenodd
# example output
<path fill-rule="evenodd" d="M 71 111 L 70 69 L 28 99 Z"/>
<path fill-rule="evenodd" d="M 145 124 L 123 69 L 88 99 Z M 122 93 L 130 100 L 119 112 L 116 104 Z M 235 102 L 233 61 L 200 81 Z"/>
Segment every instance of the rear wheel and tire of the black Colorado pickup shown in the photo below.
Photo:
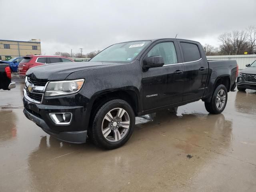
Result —
<path fill-rule="evenodd" d="M 220 114 L 225 109 L 227 101 L 228 91 L 226 87 L 221 84 L 215 88 L 211 101 L 204 102 L 204 106 L 210 114 Z"/>

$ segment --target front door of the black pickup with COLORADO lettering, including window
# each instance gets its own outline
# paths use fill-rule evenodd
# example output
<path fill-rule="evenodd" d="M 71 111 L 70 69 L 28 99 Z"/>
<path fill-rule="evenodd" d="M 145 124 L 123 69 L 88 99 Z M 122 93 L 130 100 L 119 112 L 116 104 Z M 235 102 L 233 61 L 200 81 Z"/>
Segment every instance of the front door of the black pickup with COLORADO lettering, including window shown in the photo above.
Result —
<path fill-rule="evenodd" d="M 157 42 L 143 60 L 151 56 L 162 56 L 164 66 L 142 72 L 143 110 L 182 102 L 184 65 L 177 42 Z"/>

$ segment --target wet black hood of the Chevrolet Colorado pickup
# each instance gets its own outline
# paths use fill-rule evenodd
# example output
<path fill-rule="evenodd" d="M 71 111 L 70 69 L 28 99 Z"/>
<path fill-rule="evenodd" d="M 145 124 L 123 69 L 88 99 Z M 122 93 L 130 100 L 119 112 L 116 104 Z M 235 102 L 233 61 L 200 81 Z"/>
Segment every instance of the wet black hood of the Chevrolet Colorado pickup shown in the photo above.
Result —
<path fill-rule="evenodd" d="M 108 62 L 62 62 L 44 64 L 30 68 L 26 75 L 30 78 L 37 79 L 64 80 L 69 74 L 73 72 L 109 67 L 113 65 L 117 64 Z"/>

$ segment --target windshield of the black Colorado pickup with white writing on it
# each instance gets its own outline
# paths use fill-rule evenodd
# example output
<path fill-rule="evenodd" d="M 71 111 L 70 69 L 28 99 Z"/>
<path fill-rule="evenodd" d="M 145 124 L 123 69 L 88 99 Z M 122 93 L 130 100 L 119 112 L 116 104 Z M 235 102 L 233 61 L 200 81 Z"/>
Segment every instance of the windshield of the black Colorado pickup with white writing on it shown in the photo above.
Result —
<path fill-rule="evenodd" d="M 150 41 L 133 41 L 114 44 L 97 54 L 90 61 L 130 62 L 146 47 L 149 42 Z"/>

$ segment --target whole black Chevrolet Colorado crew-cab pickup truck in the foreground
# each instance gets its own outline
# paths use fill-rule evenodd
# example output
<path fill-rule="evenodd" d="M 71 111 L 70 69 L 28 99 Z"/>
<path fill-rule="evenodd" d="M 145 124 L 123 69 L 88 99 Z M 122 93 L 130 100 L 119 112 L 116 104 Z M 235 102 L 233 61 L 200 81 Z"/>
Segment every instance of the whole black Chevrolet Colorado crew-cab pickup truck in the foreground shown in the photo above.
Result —
<path fill-rule="evenodd" d="M 24 114 L 67 142 L 113 149 L 128 141 L 135 116 L 198 100 L 221 113 L 236 87 L 236 61 L 207 61 L 200 43 L 155 39 L 114 44 L 89 62 L 28 70 Z"/>

